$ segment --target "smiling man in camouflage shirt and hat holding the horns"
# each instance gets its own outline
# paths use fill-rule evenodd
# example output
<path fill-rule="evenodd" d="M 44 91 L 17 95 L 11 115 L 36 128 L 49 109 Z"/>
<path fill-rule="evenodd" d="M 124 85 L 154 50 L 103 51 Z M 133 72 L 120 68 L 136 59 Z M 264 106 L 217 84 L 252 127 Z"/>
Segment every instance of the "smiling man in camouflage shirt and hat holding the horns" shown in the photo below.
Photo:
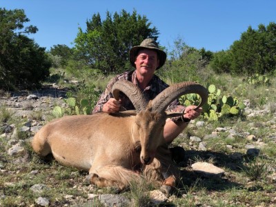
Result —
<path fill-rule="evenodd" d="M 119 110 L 135 109 L 128 97 L 121 96 L 119 101 L 112 97 L 112 86 L 116 81 L 121 79 L 126 79 L 135 83 L 141 89 L 148 101 L 154 99 L 159 92 L 168 88 L 168 84 L 164 83 L 164 81 L 155 75 L 155 70 L 161 68 L 165 61 L 166 52 L 159 49 L 154 39 L 145 39 L 141 42 L 140 46 L 133 47 L 130 50 L 130 63 L 136 69 L 130 72 L 124 72 L 113 78 L 108 83 L 106 90 L 101 94 L 92 113 L 114 113 Z M 193 110 L 195 107 L 196 106 L 181 106 L 177 100 L 173 101 L 170 106 L 168 106 L 167 110 L 184 112 L 184 115 L 181 117 L 166 120 L 164 138 L 168 144 L 188 126 L 190 119 L 195 119 L 200 115 L 202 109 Z"/>

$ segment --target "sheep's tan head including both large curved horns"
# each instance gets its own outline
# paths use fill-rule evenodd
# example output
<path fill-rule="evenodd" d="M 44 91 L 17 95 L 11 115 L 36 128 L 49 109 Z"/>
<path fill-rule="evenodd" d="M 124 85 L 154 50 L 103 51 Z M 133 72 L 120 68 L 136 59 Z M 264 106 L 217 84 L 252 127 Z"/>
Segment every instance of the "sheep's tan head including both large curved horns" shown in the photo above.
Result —
<path fill-rule="evenodd" d="M 117 81 L 112 87 L 115 99 L 119 99 L 119 91 L 124 92 L 137 110 L 132 136 L 141 144 L 140 159 L 142 164 L 150 164 L 157 148 L 164 143 L 164 126 L 166 119 L 180 116 L 180 113 L 166 113 L 168 105 L 188 93 L 197 93 L 201 97 L 202 106 L 208 99 L 208 90 L 195 82 L 182 82 L 163 90 L 155 99 L 147 103 L 141 90 L 130 81 Z"/>

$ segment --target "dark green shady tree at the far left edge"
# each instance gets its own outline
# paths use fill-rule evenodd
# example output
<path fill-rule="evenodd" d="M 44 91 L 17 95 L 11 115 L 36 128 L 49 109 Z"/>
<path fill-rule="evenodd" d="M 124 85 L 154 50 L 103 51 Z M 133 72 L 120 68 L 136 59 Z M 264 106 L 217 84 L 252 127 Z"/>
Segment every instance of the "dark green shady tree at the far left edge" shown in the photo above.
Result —
<path fill-rule="evenodd" d="M 26 34 L 37 32 L 23 10 L 0 8 L 0 88 L 32 88 L 49 76 L 50 60 L 45 48 Z"/>

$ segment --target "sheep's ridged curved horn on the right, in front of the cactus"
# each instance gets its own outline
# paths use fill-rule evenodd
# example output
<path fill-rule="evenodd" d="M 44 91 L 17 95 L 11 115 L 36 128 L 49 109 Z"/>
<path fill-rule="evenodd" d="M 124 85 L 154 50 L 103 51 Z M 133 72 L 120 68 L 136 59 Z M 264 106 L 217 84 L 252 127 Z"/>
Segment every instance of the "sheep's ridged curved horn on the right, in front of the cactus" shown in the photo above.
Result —
<path fill-rule="evenodd" d="M 176 83 L 163 90 L 159 93 L 159 95 L 157 95 L 157 97 L 155 97 L 155 99 L 152 100 L 152 110 L 164 112 L 172 101 L 178 99 L 181 95 L 189 93 L 197 93 L 201 97 L 201 103 L 199 103 L 197 108 L 206 103 L 208 99 L 208 90 L 199 83 L 191 81 Z"/>

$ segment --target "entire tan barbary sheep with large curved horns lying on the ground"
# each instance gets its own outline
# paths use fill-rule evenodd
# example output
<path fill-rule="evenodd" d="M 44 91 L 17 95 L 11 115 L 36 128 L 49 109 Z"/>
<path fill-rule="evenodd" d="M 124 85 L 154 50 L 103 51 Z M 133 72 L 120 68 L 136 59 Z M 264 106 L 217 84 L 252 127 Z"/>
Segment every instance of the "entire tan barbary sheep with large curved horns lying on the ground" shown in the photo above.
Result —
<path fill-rule="evenodd" d="M 52 153 L 63 166 L 89 171 L 87 179 L 99 187 L 112 186 L 124 190 L 130 181 L 147 179 L 161 186 L 169 195 L 179 178 L 163 132 L 166 119 L 179 113 L 166 108 L 188 93 L 201 97 L 200 107 L 208 91 L 194 82 L 177 83 L 166 88 L 147 103 L 141 90 L 130 81 L 117 81 L 112 94 L 119 99 L 124 92 L 135 110 L 108 114 L 65 116 L 43 126 L 32 140 L 32 148 L 40 156 Z"/>

